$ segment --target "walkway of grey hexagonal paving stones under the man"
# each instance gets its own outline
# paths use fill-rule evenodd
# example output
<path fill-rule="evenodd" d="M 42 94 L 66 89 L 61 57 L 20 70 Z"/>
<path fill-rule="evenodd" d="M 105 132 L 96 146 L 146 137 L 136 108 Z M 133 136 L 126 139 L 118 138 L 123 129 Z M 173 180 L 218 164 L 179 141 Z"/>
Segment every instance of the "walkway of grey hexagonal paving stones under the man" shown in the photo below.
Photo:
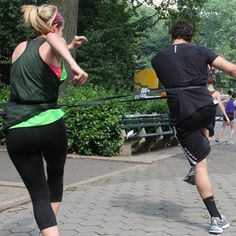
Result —
<path fill-rule="evenodd" d="M 215 145 L 209 158 L 217 204 L 231 222 L 225 236 L 236 235 L 235 149 L 236 144 Z M 204 204 L 196 188 L 182 181 L 189 167 L 180 148 L 141 156 L 151 155 L 151 164 L 113 162 L 120 165 L 118 169 L 113 166 L 112 171 L 106 169 L 77 183 L 68 181 L 58 216 L 61 235 L 209 235 Z M 0 187 L 0 194 L 3 190 Z M 5 235 L 39 235 L 30 203 L 0 213 L 0 236 Z"/>

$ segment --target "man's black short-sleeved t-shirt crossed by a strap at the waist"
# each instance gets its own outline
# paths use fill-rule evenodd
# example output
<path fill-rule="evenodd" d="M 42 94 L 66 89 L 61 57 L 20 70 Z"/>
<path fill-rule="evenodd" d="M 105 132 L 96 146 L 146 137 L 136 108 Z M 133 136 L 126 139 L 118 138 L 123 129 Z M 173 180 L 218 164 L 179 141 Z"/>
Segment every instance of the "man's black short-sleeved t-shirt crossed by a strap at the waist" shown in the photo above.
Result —
<path fill-rule="evenodd" d="M 187 119 L 212 103 L 206 88 L 207 67 L 218 55 L 202 46 L 183 43 L 170 45 L 152 59 L 152 67 L 165 88 L 202 86 L 168 92 L 170 120 L 173 125 Z"/>

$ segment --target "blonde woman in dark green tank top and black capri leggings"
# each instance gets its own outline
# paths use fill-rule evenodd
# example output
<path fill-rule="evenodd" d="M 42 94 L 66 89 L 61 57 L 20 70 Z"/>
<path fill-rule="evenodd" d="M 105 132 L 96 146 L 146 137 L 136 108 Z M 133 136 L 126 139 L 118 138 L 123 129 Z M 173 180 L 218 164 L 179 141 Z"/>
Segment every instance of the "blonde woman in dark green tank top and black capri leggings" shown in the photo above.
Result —
<path fill-rule="evenodd" d="M 56 214 L 63 194 L 67 135 L 63 111 L 57 107 L 59 85 L 66 78 L 64 59 L 83 85 L 88 75 L 62 38 L 64 20 L 56 6 L 25 5 L 25 22 L 38 37 L 20 43 L 12 54 L 11 95 L 5 106 L 4 127 L 9 156 L 30 194 L 35 220 L 44 236 L 58 236 Z M 46 162 L 46 174 L 43 160 Z"/>

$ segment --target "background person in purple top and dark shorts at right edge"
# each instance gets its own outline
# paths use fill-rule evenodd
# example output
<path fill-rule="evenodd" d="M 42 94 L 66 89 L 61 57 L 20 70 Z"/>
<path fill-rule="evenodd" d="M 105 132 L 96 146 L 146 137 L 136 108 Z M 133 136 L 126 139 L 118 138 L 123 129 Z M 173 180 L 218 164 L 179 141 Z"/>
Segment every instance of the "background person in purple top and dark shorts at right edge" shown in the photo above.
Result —
<path fill-rule="evenodd" d="M 228 122 L 227 116 L 224 115 L 222 127 L 220 128 L 219 133 L 217 134 L 217 137 L 215 138 L 215 141 L 216 142 L 220 141 L 219 137 L 222 136 L 226 126 L 230 125 L 230 133 L 229 133 L 229 137 L 226 143 L 234 144 L 233 136 L 236 129 L 235 120 L 234 120 L 234 115 L 236 111 L 236 92 L 232 92 L 231 98 L 229 98 L 228 102 L 226 103 L 225 111 L 226 111 L 227 116 L 229 117 L 230 122 Z"/>

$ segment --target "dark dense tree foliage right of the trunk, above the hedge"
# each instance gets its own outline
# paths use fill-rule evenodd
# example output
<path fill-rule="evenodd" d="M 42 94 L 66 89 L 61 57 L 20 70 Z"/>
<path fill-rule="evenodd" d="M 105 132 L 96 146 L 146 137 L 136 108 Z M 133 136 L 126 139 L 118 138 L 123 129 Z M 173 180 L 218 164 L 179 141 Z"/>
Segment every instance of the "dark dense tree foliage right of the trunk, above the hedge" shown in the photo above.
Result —
<path fill-rule="evenodd" d="M 78 60 L 93 84 L 124 91 L 133 84 L 134 55 L 149 18 L 134 20 L 126 0 L 80 0 L 79 34 L 88 42 L 79 49 Z"/>

